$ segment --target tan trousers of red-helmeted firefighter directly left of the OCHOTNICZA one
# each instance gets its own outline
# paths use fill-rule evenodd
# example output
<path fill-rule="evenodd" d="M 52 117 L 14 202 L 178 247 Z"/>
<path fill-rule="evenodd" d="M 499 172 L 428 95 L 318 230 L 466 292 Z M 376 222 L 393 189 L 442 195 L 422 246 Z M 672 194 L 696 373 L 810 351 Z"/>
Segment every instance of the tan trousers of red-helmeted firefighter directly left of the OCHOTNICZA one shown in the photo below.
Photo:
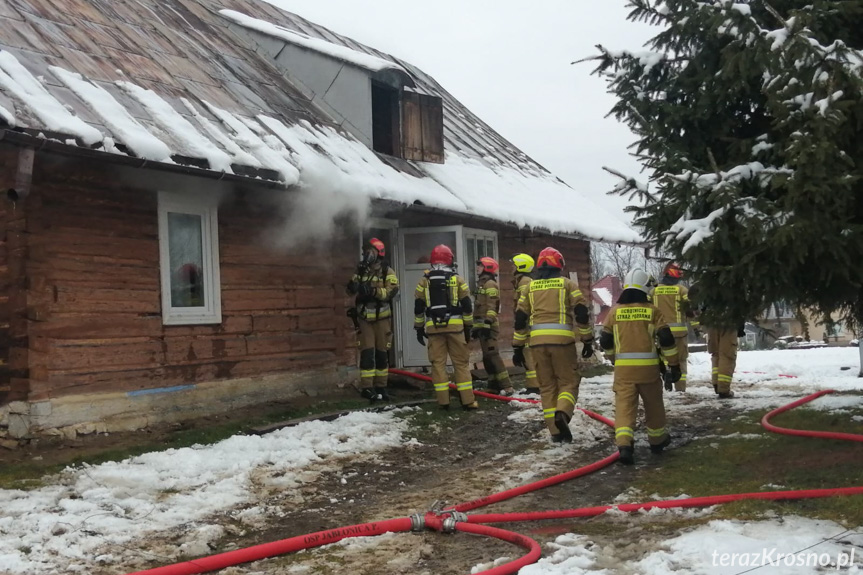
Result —
<path fill-rule="evenodd" d="M 563 411 L 572 418 L 578 401 L 581 374 L 577 371 L 575 345 L 536 345 L 531 350 L 542 398 L 542 417 L 549 433 L 557 435 L 559 431 L 554 424 L 555 412 Z"/>

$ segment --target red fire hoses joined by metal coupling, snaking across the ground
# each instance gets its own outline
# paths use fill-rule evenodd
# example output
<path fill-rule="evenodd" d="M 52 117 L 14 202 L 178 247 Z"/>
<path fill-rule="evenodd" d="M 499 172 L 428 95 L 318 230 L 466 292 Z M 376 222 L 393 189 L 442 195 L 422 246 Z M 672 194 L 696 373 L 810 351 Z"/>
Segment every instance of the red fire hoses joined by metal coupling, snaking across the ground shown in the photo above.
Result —
<path fill-rule="evenodd" d="M 427 376 L 423 376 L 420 374 L 415 374 L 408 371 L 402 370 L 390 370 L 392 373 L 406 375 L 408 377 L 416 377 L 417 379 L 422 379 L 426 381 L 431 381 L 431 378 Z M 774 409 L 767 415 L 765 415 L 761 424 L 768 431 L 774 433 L 783 433 L 787 435 L 798 435 L 804 437 L 820 437 L 825 439 L 843 439 L 850 441 L 863 441 L 863 435 L 851 434 L 851 433 L 828 433 L 828 432 L 819 432 L 819 431 L 803 431 L 803 430 L 794 430 L 794 429 L 786 429 L 782 427 L 777 427 L 770 423 L 770 418 L 788 411 L 790 409 L 794 409 L 804 403 L 808 403 L 813 401 L 825 394 L 833 393 L 833 390 L 821 391 L 818 393 L 814 393 L 803 399 L 790 403 L 786 406 Z M 494 399 L 501 399 L 504 401 L 523 401 L 530 403 L 539 403 L 537 400 L 533 399 L 522 399 L 522 398 L 507 398 L 500 397 L 494 394 L 487 394 L 482 392 L 477 392 L 479 395 L 492 397 Z M 614 422 L 601 416 L 596 413 L 582 410 L 584 413 L 589 415 L 590 417 L 605 423 L 606 425 L 614 426 Z M 730 503 L 732 501 L 740 501 L 744 499 L 762 499 L 762 500 L 772 500 L 772 501 L 782 501 L 782 500 L 795 500 L 795 499 L 810 499 L 817 497 L 834 497 L 834 496 L 847 496 L 847 495 L 863 495 L 863 486 L 861 487 L 844 487 L 844 488 L 834 488 L 834 489 L 808 489 L 808 490 L 798 490 L 798 491 L 769 491 L 769 492 L 759 492 L 759 493 L 736 493 L 731 495 L 715 495 L 708 497 L 690 497 L 688 499 L 672 499 L 672 500 L 664 500 L 664 501 L 652 501 L 648 503 L 627 503 L 621 505 L 603 505 L 598 507 L 583 507 L 580 509 L 569 509 L 569 510 L 559 510 L 559 511 L 538 511 L 538 512 L 528 512 L 528 513 L 499 513 L 499 514 L 486 514 L 486 515 L 465 515 L 464 511 L 468 511 L 471 509 L 476 509 L 478 507 L 482 507 L 485 505 L 490 505 L 492 503 L 497 503 L 500 501 L 504 501 L 506 499 L 510 499 L 512 497 L 516 497 L 517 495 L 521 495 L 523 493 L 528 493 L 531 491 L 535 491 L 537 489 L 542 489 L 544 487 L 548 487 L 550 485 L 555 485 L 557 483 L 561 483 L 568 479 L 572 479 L 575 477 L 580 477 L 582 475 L 586 475 L 587 473 L 591 473 L 592 471 L 596 471 L 597 469 L 601 469 L 606 465 L 614 462 L 618 458 L 618 455 L 615 453 L 610 455 L 596 463 L 592 463 L 580 469 L 575 469 L 573 471 L 562 473 L 560 475 L 550 477 L 541 481 L 537 481 L 532 484 L 524 485 L 521 487 L 517 487 L 514 489 L 509 489 L 507 491 L 503 491 L 501 493 L 496 493 L 493 495 L 489 495 L 486 497 L 482 497 L 480 499 L 476 499 L 474 501 L 469 501 L 467 503 L 462 503 L 453 507 L 450 507 L 444 510 L 440 515 L 435 515 L 434 513 L 427 513 L 423 519 L 422 523 L 424 527 L 434 529 L 437 531 L 460 531 L 463 533 L 473 533 L 476 535 L 483 535 L 487 537 L 494 537 L 500 539 L 502 541 L 506 541 L 515 545 L 518 545 L 524 549 L 528 550 L 528 553 L 523 557 L 506 563 L 504 565 L 499 565 L 492 569 L 482 571 L 477 575 L 511 575 L 517 573 L 519 569 L 524 566 L 535 563 L 539 560 L 541 555 L 539 544 L 529 537 L 525 537 L 518 533 L 514 533 L 511 531 L 505 531 L 503 529 L 498 529 L 495 527 L 489 527 L 487 525 L 477 525 L 480 523 L 505 523 L 505 522 L 515 522 L 515 521 L 537 521 L 543 519 L 571 519 L 576 517 L 594 517 L 597 515 L 601 515 L 611 509 L 617 509 L 624 512 L 635 512 L 640 510 L 649 510 L 649 509 L 673 509 L 673 508 L 688 508 L 688 507 L 705 507 L 710 505 L 717 505 L 722 503 Z M 265 559 L 268 557 L 275 557 L 277 555 L 284 555 L 286 553 L 292 553 L 295 551 L 300 551 L 303 549 L 311 549 L 314 547 L 319 547 L 322 545 L 327 545 L 329 543 L 335 543 L 336 541 L 341 541 L 342 539 L 347 539 L 350 537 L 366 537 L 373 535 L 382 535 L 384 533 L 401 533 L 405 531 L 410 531 L 412 528 L 416 528 L 417 525 L 415 521 L 418 516 L 405 517 L 400 519 L 390 519 L 387 521 L 380 521 L 375 523 L 363 523 L 359 525 L 352 525 L 350 527 L 341 527 L 337 529 L 331 529 L 328 531 L 319 531 L 317 533 L 311 533 L 309 535 L 301 535 L 298 537 L 292 537 L 290 539 L 284 539 L 282 541 L 276 541 L 273 543 L 265 543 L 263 545 L 256 545 L 254 547 L 249 547 L 246 549 L 238 549 L 236 551 L 230 551 L 228 553 L 221 553 L 219 555 L 212 555 L 209 557 L 203 557 L 200 559 L 195 559 L 194 561 L 187 561 L 185 563 L 177 563 L 175 565 L 167 565 L 164 567 L 158 567 L 156 569 L 149 569 L 147 571 L 139 571 L 130 575 L 197 575 L 199 573 L 206 573 L 209 571 L 215 571 L 218 569 L 223 569 L 232 565 L 238 565 L 240 563 L 247 563 L 251 561 L 257 561 L 260 559 Z"/>

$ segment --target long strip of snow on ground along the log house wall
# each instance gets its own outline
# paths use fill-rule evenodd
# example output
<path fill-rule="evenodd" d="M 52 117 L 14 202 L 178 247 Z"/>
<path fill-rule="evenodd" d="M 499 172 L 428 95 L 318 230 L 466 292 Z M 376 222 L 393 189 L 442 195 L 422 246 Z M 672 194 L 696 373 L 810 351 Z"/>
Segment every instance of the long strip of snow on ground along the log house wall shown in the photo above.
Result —
<path fill-rule="evenodd" d="M 352 413 L 337 425 L 311 421 L 263 436 L 67 468 L 54 485 L 0 490 L 0 573 L 87 572 L 108 544 L 134 546 L 148 533 L 251 501 L 259 488 L 253 473 L 255 483 L 281 490 L 314 481 L 347 458 L 401 445 L 407 423 L 396 411 Z M 206 552 L 199 547 L 192 544 L 186 552 Z"/>

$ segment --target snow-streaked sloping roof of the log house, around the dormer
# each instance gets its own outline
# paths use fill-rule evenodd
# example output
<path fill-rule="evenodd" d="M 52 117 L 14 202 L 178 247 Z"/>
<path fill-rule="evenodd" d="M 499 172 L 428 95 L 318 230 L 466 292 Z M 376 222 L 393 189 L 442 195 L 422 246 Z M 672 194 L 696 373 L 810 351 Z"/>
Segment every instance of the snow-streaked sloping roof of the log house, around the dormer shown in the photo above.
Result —
<path fill-rule="evenodd" d="M 591 239 L 639 236 L 513 146 L 406 62 L 256 0 L 73 4 L 0 12 L 0 120 L 69 145 L 286 185 L 481 215 Z M 190 10 L 191 7 L 191 10 Z M 13 14 L 14 13 L 14 14 Z M 392 161 L 339 129 L 290 78 L 228 31 L 261 33 L 440 96 L 445 163 Z M 288 74 L 289 76 L 289 74 Z"/>

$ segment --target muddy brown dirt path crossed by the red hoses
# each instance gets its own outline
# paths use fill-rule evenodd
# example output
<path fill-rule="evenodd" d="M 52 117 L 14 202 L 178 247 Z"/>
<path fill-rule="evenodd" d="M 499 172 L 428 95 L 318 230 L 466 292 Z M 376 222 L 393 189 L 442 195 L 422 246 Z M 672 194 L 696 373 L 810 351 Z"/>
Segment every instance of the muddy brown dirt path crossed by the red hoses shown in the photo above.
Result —
<path fill-rule="evenodd" d="M 424 408 L 430 409 L 430 408 Z M 715 407 L 711 407 L 716 421 Z M 586 417 L 579 419 L 588 440 L 568 446 L 548 442 L 539 414 L 513 419 L 512 406 L 484 402 L 479 413 L 453 414 L 419 444 L 380 454 L 372 461 L 359 461 L 340 469 L 324 470 L 299 489 L 283 491 L 267 487 L 266 470 L 256 481 L 256 501 L 249 507 L 266 510 L 266 517 L 249 521 L 238 512 L 214 518 L 223 528 L 219 537 L 206 541 L 200 553 L 219 553 L 297 535 L 375 520 L 404 517 L 427 511 L 438 500 L 448 504 L 470 501 L 522 485 L 524 483 L 570 471 L 613 452 L 611 434 L 601 424 Z M 691 437 L 709 433 L 709 425 L 696 425 L 696 416 L 676 421 L 675 447 L 685 445 Z M 437 420 L 435 420 L 437 421 Z M 578 434 L 577 434 L 578 435 Z M 577 438 L 578 439 L 578 438 Z M 645 450 L 646 451 L 646 450 Z M 635 468 L 610 466 L 598 473 L 563 483 L 509 501 L 485 507 L 474 513 L 505 513 L 572 509 L 619 502 L 633 479 L 641 473 L 655 473 L 662 457 L 643 456 Z M 576 520 L 500 524 L 504 529 L 545 543 L 564 533 L 578 533 L 584 526 Z M 632 537 L 630 554 L 637 556 L 650 541 L 658 541 L 674 532 L 664 529 L 656 519 L 645 530 L 640 522 L 626 518 L 600 517 L 588 530 L 592 539 L 613 545 L 620 537 Z M 174 555 L 179 546 L 194 544 L 198 535 L 194 526 L 154 538 L 142 545 L 155 557 Z M 347 540 L 338 545 L 239 566 L 226 574 L 383 574 L 463 575 L 478 564 L 500 557 L 515 558 L 519 548 L 493 539 L 464 534 L 446 536 L 439 533 L 399 534 L 377 538 Z M 154 557 L 154 558 L 155 558 Z M 175 559 L 176 560 L 176 559 Z M 170 561 L 142 563 L 139 568 L 153 567 Z"/>

